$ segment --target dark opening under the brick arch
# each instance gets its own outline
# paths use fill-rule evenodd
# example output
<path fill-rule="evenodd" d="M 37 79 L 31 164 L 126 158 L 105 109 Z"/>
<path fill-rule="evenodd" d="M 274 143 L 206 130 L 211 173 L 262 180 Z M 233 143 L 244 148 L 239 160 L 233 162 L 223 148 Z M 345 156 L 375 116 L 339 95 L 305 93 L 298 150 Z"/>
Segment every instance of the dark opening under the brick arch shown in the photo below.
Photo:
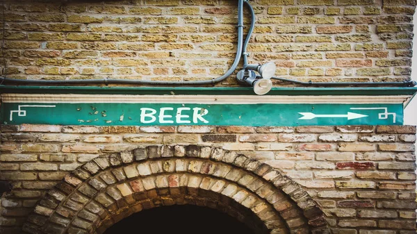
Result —
<path fill-rule="evenodd" d="M 161 206 L 142 210 L 108 228 L 104 234 L 255 234 L 223 212 L 200 206 Z"/>

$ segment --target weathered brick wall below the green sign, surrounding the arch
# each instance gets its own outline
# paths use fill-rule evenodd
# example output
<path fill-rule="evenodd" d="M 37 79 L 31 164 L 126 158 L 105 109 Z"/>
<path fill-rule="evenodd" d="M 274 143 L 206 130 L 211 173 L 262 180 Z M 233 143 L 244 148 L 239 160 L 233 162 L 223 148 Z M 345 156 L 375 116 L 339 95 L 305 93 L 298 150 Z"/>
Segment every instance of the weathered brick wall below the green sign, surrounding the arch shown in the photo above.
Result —
<path fill-rule="evenodd" d="M 99 156 L 149 145 L 218 147 L 266 162 L 302 185 L 336 233 L 414 233 L 412 126 L 2 126 L 1 233 L 19 233 L 44 193 Z M 380 232 L 378 232 L 380 233 Z"/>

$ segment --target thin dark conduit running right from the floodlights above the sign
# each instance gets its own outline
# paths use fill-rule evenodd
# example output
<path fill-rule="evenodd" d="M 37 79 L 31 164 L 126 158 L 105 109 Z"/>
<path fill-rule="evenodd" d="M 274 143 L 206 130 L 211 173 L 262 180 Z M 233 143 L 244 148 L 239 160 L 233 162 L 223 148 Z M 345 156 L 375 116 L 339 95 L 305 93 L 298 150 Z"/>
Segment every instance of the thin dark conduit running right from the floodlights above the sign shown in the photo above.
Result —
<path fill-rule="evenodd" d="M 256 78 L 262 78 L 261 76 L 256 76 Z M 303 82 L 295 81 L 286 78 L 272 77 L 271 79 L 277 81 L 284 81 L 289 83 L 295 83 L 297 85 L 306 85 L 306 86 L 345 86 L 345 85 L 357 85 L 357 86 L 381 86 L 381 85 L 394 85 L 402 87 L 414 87 L 417 85 L 416 81 L 403 81 L 403 82 Z"/>

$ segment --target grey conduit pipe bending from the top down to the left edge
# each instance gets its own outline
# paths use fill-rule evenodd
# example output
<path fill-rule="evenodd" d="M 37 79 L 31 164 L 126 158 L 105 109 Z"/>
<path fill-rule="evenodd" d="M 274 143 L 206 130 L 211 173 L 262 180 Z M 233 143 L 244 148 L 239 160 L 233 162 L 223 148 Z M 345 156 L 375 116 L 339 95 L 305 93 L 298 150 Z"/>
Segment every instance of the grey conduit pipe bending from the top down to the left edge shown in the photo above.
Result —
<path fill-rule="evenodd" d="M 127 84 L 127 85 L 173 85 L 173 86 L 180 86 L 180 85 L 214 85 L 215 83 L 219 83 L 224 81 L 227 77 L 229 77 L 239 65 L 240 58 L 242 58 L 243 53 L 243 3 L 246 3 L 247 6 L 252 8 L 247 0 L 239 0 L 238 1 L 238 49 L 236 51 L 236 58 L 234 59 L 233 65 L 229 68 L 229 70 L 222 76 L 218 78 L 213 78 L 210 81 L 132 81 L 132 80 L 117 80 L 117 79 L 110 79 L 105 78 L 102 79 L 95 79 L 95 80 L 69 80 L 69 81 L 44 81 L 44 80 L 21 80 L 21 79 L 13 79 L 13 78 L 6 78 L 0 77 L 0 84 L 7 84 L 13 83 L 17 85 L 74 85 L 74 84 L 90 84 L 90 85 L 108 85 L 108 84 Z M 252 9 L 253 12 L 253 9 Z M 252 15 L 254 18 L 254 15 Z M 254 31 L 254 22 L 252 22 L 250 27 L 250 35 L 247 36 L 247 40 L 245 42 L 245 48 L 249 43 L 250 36 Z"/>

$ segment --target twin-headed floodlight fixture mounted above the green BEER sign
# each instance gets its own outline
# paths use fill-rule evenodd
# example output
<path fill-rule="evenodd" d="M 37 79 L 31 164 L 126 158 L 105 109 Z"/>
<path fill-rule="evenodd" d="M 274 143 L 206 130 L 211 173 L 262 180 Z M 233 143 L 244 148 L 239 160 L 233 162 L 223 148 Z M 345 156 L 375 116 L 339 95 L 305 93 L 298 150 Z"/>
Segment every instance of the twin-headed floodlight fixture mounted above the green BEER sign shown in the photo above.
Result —
<path fill-rule="evenodd" d="M 237 75 L 238 81 L 253 86 L 256 94 L 267 94 L 272 89 L 272 81 L 270 78 L 258 77 L 253 70 L 240 70 Z"/>

